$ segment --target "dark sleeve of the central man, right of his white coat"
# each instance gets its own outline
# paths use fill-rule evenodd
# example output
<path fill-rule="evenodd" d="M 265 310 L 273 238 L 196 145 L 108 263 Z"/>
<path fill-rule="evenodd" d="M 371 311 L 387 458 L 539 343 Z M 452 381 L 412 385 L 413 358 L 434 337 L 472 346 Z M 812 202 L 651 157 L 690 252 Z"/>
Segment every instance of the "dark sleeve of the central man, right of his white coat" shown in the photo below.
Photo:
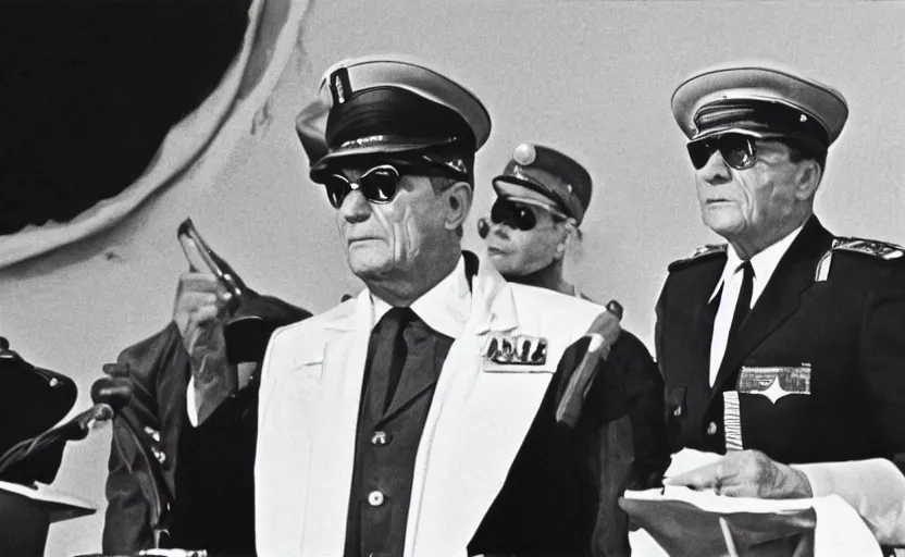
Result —
<path fill-rule="evenodd" d="M 583 338 L 566 351 L 559 370 L 563 377 L 578 367 L 586 349 Z M 573 434 L 584 497 L 580 504 L 587 515 L 582 529 L 586 553 L 629 555 L 628 516 L 619 508 L 619 497 L 633 475 L 632 428 L 621 374 L 609 360 L 597 364 Z"/>

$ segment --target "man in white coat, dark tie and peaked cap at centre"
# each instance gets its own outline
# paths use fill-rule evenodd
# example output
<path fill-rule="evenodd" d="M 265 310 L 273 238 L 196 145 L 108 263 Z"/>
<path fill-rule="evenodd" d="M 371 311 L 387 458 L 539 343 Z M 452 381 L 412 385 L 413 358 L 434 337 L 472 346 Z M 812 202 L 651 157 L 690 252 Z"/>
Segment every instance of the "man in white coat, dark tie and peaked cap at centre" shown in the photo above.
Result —
<path fill-rule="evenodd" d="M 627 555 L 608 480 L 631 468 L 621 377 L 582 382 L 604 308 L 461 248 L 486 109 L 396 58 L 340 62 L 321 90 L 328 150 L 310 176 L 367 288 L 271 338 L 259 554 Z"/>

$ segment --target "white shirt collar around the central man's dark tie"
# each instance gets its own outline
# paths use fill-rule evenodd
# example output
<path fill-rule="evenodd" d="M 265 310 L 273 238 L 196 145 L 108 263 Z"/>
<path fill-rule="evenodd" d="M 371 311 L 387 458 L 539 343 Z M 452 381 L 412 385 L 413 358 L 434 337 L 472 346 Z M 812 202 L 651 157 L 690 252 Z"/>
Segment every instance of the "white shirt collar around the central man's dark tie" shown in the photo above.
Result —
<path fill-rule="evenodd" d="M 373 327 L 389 311 L 390 306 L 373 293 L 371 301 L 374 305 Z M 466 276 L 464 258 L 459 256 L 452 272 L 414 300 L 411 310 L 437 333 L 458 338 L 471 314 L 471 288 Z"/>

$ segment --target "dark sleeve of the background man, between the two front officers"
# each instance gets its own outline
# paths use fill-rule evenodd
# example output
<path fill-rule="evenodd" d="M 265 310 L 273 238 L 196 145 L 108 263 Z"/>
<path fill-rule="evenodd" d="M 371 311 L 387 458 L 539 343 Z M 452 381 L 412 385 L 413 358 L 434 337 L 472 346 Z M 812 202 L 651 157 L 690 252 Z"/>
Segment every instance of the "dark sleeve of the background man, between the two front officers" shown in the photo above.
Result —
<path fill-rule="evenodd" d="M 630 490 L 661 485 L 669 467 L 669 436 L 664 404 L 664 380 L 647 347 L 623 331 L 613 345 L 608 364 L 624 380 L 634 461 Z"/>

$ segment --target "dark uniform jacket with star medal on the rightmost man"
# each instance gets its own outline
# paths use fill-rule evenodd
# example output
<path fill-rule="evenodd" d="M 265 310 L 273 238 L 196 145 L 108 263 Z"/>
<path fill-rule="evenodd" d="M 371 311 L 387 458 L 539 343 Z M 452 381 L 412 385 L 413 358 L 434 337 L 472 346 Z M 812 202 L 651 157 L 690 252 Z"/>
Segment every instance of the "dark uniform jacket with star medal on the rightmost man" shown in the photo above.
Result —
<path fill-rule="evenodd" d="M 832 242 L 811 216 L 727 347 L 712 389 L 708 298 L 726 255 L 671 265 L 657 305 L 657 355 L 674 450 L 726 450 L 722 394 L 736 389 L 743 366 L 809 364 L 810 394 L 771 401 L 740 393 L 744 448 L 785 463 L 880 457 L 905 465 L 905 264 L 830 252 Z M 828 252 L 829 274 L 818 281 Z"/>

